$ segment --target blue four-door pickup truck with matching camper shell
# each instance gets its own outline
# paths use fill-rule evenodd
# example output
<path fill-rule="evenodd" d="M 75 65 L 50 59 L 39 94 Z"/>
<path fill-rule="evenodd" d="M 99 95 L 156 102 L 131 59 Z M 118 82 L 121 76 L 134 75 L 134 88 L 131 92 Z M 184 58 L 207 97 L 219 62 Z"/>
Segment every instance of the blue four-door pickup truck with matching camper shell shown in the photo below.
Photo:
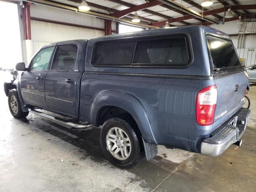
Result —
<path fill-rule="evenodd" d="M 157 145 L 218 156 L 241 145 L 250 116 L 232 41 L 206 26 L 52 43 L 16 70 L 4 84 L 14 118 L 100 126 L 106 158 L 123 169 L 156 156 Z"/>

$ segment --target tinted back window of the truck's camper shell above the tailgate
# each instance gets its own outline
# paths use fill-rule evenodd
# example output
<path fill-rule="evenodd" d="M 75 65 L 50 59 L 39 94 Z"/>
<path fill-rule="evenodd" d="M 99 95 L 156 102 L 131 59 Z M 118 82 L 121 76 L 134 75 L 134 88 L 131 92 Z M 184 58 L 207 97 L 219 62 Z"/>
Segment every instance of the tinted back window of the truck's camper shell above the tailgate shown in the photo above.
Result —
<path fill-rule="evenodd" d="M 207 42 L 210 60 L 215 72 L 242 67 L 231 40 L 207 36 Z"/>

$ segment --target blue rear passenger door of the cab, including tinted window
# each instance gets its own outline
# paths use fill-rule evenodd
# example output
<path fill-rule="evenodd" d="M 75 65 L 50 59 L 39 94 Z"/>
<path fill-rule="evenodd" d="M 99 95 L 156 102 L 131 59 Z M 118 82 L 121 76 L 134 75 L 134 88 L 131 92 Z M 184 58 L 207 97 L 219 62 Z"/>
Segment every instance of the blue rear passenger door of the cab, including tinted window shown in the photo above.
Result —
<path fill-rule="evenodd" d="M 58 45 L 45 80 L 45 99 L 51 112 L 76 116 L 76 89 L 79 70 L 78 46 Z"/>

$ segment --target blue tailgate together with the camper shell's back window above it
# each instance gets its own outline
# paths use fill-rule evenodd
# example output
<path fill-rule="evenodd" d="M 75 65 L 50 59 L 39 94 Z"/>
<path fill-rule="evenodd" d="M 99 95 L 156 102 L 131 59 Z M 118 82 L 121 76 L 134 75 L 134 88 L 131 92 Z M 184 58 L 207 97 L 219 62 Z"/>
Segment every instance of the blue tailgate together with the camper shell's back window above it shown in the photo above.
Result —
<path fill-rule="evenodd" d="M 231 40 L 207 36 L 207 43 L 218 90 L 214 122 L 224 122 L 242 107 L 248 78 Z"/>

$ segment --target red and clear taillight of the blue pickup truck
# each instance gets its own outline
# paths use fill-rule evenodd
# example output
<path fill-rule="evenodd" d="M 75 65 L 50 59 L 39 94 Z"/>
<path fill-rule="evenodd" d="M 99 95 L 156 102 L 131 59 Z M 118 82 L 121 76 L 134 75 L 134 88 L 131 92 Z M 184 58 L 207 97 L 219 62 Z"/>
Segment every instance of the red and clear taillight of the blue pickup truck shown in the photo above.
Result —
<path fill-rule="evenodd" d="M 203 88 L 196 96 L 196 122 L 199 125 L 211 125 L 217 104 L 216 85 Z"/>

